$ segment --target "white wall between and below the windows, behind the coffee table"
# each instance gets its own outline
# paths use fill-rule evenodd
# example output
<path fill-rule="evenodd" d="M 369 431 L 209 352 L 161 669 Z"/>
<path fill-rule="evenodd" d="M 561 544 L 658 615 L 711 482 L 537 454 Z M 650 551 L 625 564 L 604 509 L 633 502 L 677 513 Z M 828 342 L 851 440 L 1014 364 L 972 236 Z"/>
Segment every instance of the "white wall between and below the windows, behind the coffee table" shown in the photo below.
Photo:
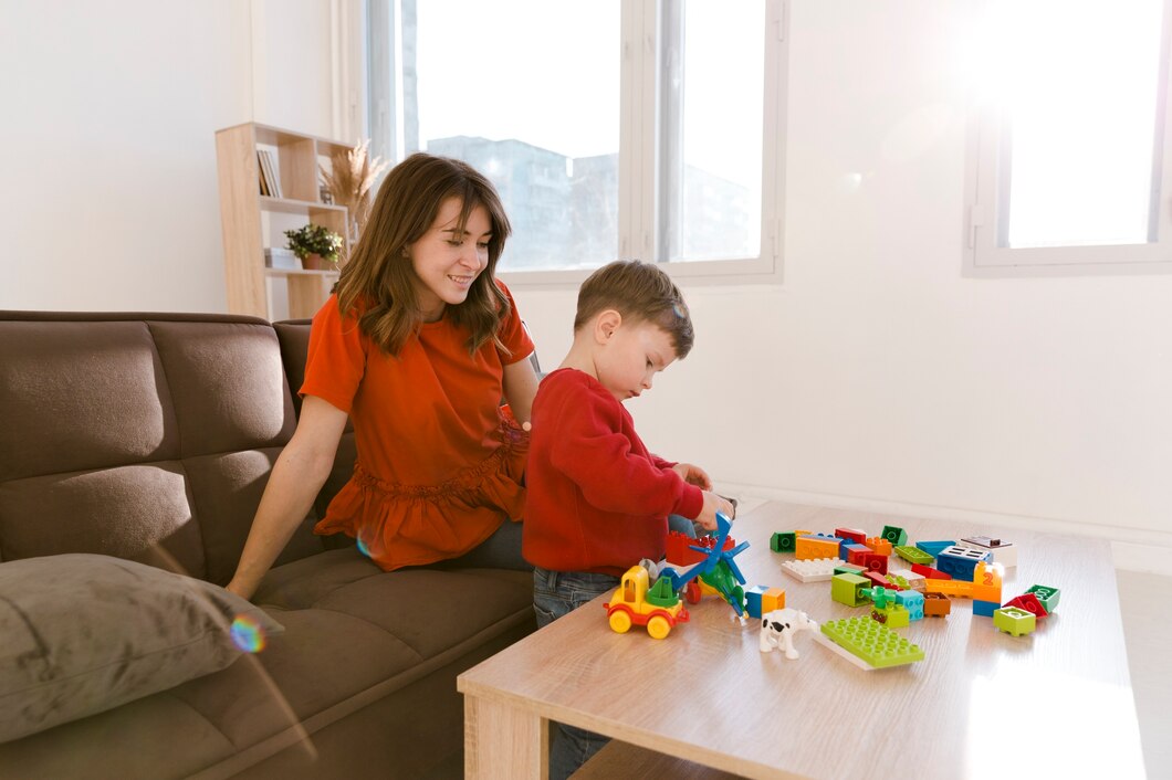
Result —
<path fill-rule="evenodd" d="M 961 275 L 956 5 L 792 4 L 784 285 L 686 286 L 696 347 L 629 408 L 735 490 L 1103 533 L 1154 567 L 1172 276 Z M 554 368 L 574 293 L 513 292 Z"/>

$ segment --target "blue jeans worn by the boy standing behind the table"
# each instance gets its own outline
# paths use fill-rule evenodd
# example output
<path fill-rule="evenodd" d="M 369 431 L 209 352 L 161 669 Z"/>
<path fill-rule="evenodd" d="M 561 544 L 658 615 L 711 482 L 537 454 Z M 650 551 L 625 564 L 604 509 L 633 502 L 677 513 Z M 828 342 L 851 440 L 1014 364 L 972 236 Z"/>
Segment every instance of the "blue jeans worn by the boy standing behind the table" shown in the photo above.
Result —
<path fill-rule="evenodd" d="M 614 593 L 619 577 L 588 572 L 550 572 L 533 568 L 533 611 L 537 627 L 545 628 L 563 615 L 568 615 L 602 594 Z M 599 630 L 605 630 L 602 610 L 599 610 Z M 590 757 L 611 741 L 585 728 L 557 724 L 550 748 L 550 780 L 565 780 Z"/>

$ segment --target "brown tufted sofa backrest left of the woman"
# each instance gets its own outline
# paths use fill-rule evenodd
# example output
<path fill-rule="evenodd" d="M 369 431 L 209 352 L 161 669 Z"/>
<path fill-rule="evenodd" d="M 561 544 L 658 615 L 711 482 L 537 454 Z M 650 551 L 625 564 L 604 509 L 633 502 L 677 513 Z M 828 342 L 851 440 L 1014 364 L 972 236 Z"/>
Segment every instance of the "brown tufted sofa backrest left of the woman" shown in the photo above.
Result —
<path fill-rule="evenodd" d="M 308 322 L 285 330 L 300 376 Z M 226 583 L 297 425 L 281 354 L 253 317 L 0 312 L 0 561 L 101 553 Z M 278 563 L 321 552 L 314 519 Z"/>

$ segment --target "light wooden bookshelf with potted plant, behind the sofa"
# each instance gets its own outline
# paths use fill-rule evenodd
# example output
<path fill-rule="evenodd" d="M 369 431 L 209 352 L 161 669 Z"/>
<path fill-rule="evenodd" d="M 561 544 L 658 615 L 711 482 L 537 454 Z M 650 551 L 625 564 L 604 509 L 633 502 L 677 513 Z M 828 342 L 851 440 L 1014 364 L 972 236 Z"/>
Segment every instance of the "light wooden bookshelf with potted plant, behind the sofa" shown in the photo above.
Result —
<path fill-rule="evenodd" d="M 258 150 L 274 155 L 280 198 L 261 194 Z M 335 271 L 293 271 L 265 266 L 266 246 L 285 246 L 285 237 L 270 221 L 274 214 L 305 218 L 342 235 L 349 248 L 345 206 L 321 201 L 318 165 L 349 145 L 291 130 L 250 122 L 216 132 L 220 223 L 224 233 L 224 279 L 232 314 L 273 319 L 270 280 L 284 281 L 288 315 L 309 317 L 329 296 Z M 270 225 L 266 234 L 266 224 Z M 275 235 L 273 235 L 275 233 Z"/>

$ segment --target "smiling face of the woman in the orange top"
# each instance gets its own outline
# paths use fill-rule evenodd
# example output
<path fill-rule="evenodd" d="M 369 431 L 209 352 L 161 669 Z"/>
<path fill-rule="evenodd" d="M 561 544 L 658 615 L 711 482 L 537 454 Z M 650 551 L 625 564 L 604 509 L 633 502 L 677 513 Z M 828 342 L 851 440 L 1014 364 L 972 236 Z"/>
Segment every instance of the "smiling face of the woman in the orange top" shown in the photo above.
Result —
<path fill-rule="evenodd" d="M 484 206 L 476 206 L 461 231 L 463 206 L 459 198 L 444 200 L 431 227 L 407 248 L 424 322 L 440 320 L 449 303 L 463 303 L 472 282 L 489 265 L 489 239 L 492 238 L 489 212 Z"/>

